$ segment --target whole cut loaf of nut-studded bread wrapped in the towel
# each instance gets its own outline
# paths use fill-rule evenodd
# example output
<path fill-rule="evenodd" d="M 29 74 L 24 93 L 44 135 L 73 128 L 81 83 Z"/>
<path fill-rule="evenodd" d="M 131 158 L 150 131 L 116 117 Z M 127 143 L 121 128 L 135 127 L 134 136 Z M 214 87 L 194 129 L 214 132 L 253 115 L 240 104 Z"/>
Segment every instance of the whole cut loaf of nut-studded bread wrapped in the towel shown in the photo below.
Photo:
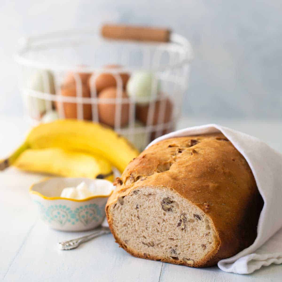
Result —
<path fill-rule="evenodd" d="M 107 219 L 136 257 L 211 266 L 256 238 L 263 200 L 248 163 L 221 133 L 152 145 L 116 186 Z"/>

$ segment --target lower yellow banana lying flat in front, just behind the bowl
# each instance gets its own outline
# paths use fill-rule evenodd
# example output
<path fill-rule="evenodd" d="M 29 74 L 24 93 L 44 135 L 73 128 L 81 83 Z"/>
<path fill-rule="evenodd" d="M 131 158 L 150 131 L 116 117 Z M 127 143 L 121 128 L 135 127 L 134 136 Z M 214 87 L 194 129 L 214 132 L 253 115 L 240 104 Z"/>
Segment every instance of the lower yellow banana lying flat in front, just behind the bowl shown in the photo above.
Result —
<path fill-rule="evenodd" d="M 14 166 L 30 172 L 113 181 L 111 164 L 100 156 L 70 152 L 60 148 L 27 149 L 19 155 Z"/>

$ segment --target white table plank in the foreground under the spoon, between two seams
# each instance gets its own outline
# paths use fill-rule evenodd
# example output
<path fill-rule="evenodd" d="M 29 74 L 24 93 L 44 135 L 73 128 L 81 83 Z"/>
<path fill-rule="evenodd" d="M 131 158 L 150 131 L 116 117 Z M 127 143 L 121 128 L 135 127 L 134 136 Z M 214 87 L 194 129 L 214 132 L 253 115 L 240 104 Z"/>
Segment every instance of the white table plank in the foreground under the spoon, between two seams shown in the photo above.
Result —
<path fill-rule="evenodd" d="M 54 231 L 36 221 L 5 280 L 24 277 L 25 281 L 158 281 L 162 263 L 130 257 L 118 248 L 111 234 L 75 250 L 57 248 L 57 242 L 85 233 Z"/>

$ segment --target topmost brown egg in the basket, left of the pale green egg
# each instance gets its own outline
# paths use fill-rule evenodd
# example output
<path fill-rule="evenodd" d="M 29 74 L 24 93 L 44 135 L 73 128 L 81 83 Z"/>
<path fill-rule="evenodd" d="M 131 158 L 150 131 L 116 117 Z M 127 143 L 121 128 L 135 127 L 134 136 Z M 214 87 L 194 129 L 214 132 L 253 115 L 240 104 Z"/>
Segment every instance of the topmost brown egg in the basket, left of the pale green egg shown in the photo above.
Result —
<path fill-rule="evenodd" d="M 108 69 L 114 69 L 114 68 L 120 68 L 120 65 L 107 65 L 105 66 L 105 68 Z M 94 76 L 95 74 L 93 74 Z M 120 78 L 122 79 L 122 87 L 125 89 L 126 87 L 126 83 L 129 80 L 129 74 L 127 73 L 120 73 Z M 94 78 L 93 78 L 94 81 Z M 90 83 L 90 89 L 91 89 L 91 78 L 89 80 Z M 114 76 L 111 73 L 102 73 L 99 74 L 95 80 L 95 87 L 96 87 L 96 91 L 99 93 L 101 92 L 103 89 L 108 88 L 108 87 L 116 87 L 116 79 L 114 78 Z"/>

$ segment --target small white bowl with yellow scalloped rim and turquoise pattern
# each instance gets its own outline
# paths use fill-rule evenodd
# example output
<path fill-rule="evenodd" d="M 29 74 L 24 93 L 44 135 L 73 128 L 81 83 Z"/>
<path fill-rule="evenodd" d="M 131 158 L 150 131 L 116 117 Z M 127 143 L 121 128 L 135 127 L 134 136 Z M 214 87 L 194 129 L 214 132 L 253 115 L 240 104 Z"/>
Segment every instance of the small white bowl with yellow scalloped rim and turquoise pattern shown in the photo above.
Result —
<path fill-rule="evenodd" d="M 76 187 L 82 181 L 95 192 L 95 196 L 82 200 L 60 197 L 64 188 Z M 32 185 L 29 193 L 38 205 L 41 219 L 51 228 L 83 231 L 102 223 L 105 205 L 113 190 L 113 183 L 104 179 L 56 177 Z"/>

